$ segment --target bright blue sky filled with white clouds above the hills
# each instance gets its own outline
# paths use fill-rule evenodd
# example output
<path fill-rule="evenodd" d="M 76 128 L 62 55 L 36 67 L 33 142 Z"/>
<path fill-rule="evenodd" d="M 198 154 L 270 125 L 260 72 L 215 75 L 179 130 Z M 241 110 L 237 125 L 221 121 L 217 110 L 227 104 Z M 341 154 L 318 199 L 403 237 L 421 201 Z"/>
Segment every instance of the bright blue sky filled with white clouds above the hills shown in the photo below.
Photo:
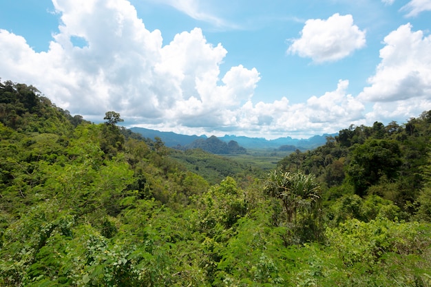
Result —
<path fill-rule="evenodd" d="M 0 78 L 94 123 L 308 138 L 431 109 L 431 0 L 0 0 Z"/>

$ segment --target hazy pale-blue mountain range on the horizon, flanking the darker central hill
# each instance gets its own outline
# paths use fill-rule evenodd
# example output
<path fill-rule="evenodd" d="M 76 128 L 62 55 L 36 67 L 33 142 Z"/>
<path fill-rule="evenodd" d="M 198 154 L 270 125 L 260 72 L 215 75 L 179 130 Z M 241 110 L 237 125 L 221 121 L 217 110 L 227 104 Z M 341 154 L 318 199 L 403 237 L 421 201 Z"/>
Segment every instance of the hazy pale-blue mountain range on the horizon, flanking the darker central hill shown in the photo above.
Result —
<path fill-rule="evenodd" d="M 171 131 L 156 131 L 154 129 L 145 129 L 143 127 L 132 127 L 130 129 L 135 133 L 141 134 L 144 138 L 154 139 L 155 137 L 160 138 L 167 147 L 185 147 L 190 145 L 195 140 L 206 140 L 207 136 L 186 136 L 182 134 L 175 134 Z M 312 136 L 308 139 L 297 139 L 287 136 L 286 138 L 277 138 L 275 140 L 266 140 L 266 138 L 249 138 L 246 136 L 232 136 L 226 135 L 219 137 L 218 140 L 222 140 L 229 145 L 229 142 L 233 140 L 240 147 L 245 149 L 293 149 L 291 146 L 295 146 L 296 149 L 315 149 L 326 143 L 326 137 L 337 136 L 338 134 L 324 134 L 322 136 Z M 215 137 L 214 137 L 215 138 Z"/>

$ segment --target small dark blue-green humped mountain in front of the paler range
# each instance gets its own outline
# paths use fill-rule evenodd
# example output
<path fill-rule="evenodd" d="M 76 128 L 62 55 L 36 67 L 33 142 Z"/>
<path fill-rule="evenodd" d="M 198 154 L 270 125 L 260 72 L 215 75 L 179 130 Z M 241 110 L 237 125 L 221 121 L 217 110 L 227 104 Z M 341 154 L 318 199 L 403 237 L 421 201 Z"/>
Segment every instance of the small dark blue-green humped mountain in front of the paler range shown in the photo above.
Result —
<path fill-rule="evenodd" d="M 204 151 L 215 154 L 241 154 L 247 152 L 247 150 L 244 149 L 244 147 L 240 147 L 235 140 L 224 142 L 216 136 L 210 136 L 205 139 L 200 138 L 191 142 L 189 145 L 185 145 L 183 149 L 203 149 Z"/>

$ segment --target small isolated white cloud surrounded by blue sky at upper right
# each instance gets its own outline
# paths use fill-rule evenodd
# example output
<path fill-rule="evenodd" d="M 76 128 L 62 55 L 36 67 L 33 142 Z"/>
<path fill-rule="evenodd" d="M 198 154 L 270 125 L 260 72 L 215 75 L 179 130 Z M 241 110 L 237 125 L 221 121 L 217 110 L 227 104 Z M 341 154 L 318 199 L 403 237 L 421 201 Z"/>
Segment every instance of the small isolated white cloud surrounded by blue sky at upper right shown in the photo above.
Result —
<path fill-rule="evenodd" d="M 343 59 L 365 43 L 365 32 L 353 25 L 352 15 L 337 13 L 326 20 L 307 20 L 301 38 L 293 40 L 288 52 L 322 63 Z"/>

